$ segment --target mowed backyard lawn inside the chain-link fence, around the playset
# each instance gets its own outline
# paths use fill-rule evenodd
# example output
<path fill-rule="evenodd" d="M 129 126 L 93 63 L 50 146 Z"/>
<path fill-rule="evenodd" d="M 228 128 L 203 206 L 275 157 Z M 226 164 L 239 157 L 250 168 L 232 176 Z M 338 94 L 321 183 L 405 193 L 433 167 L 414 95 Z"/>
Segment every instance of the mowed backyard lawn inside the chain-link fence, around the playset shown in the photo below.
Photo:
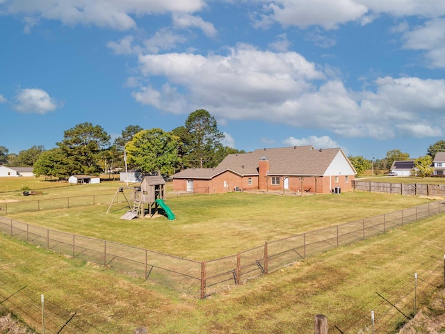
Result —
<path fill-rule="evenodd" d="M 80 189 L 80 190 L 79 190 Z M 57 189 L 57 196 L 109 191 L 96 184 Z M 116 189 L 116 188 L 114 188 Z M 54 193 L 32 196 L 51 198 Z M 31 196 L 28 196 L 31 197 Z M 112 196 L 111 196 L 112 198 Z M 110 201 L 111 201 L 110 198 Z M 121 198 L 122 199 L 122 198 Z M 116 204 L 22 212 L 18 221 L 88 237 L 147 248 L 191 260 L 211 260 L 309 232 L 414 207 L 428 198 L 382 193 L 350 192 L 341 195 L 281 196 L 264 193 L 225 193 L 168 197 L 175 221 L 165 216 L 124 221 L 128 207 Z"/>

